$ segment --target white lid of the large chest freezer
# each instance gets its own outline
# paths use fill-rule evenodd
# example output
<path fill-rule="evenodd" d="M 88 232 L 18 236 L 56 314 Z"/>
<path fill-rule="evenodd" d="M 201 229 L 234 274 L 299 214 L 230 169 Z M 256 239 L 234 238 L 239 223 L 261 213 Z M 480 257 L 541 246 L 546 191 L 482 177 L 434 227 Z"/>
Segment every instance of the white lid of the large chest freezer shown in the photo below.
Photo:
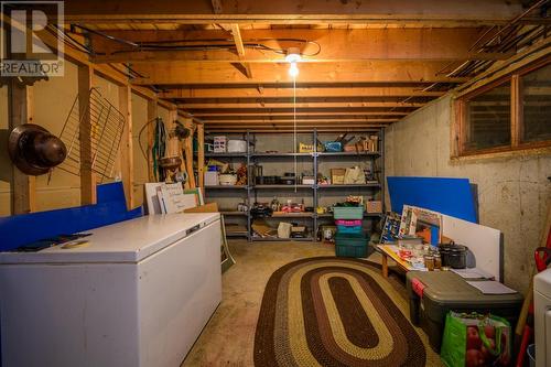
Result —
<path fill-rule="evenodd" d="M 54 246 L 37 252 L 0 252 L 0 265 L 138 262 L 197 229 L 219 220 L 219 213 L 149 215 L 87 230 L 84 247 Z M 212 229 L 220 230 L 219 225 Z"/>

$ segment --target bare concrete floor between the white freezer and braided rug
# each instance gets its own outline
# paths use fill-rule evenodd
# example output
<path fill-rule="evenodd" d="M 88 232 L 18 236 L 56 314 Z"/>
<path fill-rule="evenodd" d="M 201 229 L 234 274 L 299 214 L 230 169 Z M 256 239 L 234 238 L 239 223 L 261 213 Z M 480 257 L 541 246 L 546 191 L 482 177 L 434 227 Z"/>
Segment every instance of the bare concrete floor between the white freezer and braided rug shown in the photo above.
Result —
<path fill-rule="evenodd" d="M 233 240 L 229 248 L 237 263 L 223 276 L 223 301 L 182 367 L 253 366 L 255 330 L 270 276 L 298 259 L 335 255 L 333 245 L 314 242 Z M 369 259 L 380 262 L 378 253 Z M 436 355 L 428 354 L 430 365 L 440 365 Z"/>

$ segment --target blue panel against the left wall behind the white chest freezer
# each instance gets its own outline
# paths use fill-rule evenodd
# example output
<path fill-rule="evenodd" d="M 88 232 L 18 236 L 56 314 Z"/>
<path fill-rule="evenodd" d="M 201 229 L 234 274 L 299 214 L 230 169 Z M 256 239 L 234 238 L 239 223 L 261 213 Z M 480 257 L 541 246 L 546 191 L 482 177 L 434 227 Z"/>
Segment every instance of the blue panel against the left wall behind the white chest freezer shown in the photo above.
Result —
<path fill-rule="evenodd" d="M 71 235 L 143 215 L 142 207 L 127 211 L 121 182 L 97 186 L 97 204 L 66 209 L 0 217 L 0 250 L 40 239 Z"/>

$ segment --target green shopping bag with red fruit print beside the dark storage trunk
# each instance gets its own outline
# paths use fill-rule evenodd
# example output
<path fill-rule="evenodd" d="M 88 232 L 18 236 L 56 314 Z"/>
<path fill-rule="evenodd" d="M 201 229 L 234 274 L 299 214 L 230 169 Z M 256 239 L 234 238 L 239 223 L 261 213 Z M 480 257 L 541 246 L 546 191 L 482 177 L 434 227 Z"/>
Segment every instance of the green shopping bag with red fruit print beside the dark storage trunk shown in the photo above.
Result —
<path fill-rule="evenodd" d="M 440 357 L 447 367 L 508 366 L 511 327 L 495 315 L 446 315 Z"/>

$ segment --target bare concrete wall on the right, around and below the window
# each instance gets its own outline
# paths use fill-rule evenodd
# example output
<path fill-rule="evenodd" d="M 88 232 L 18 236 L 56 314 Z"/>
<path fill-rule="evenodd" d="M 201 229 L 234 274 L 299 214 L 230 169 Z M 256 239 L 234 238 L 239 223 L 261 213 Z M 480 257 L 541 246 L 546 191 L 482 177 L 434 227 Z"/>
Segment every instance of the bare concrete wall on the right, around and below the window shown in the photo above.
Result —
<path fill-rule="evenodd" d="M 451 122 L 447 95 L 387 128 L 386 174 L 468 177 L 478 186 L 479 223 L 504 234 L 505 283 L 525 291 L 551 204 L 551 155 L 455 162 L 450 159 Z"/>

